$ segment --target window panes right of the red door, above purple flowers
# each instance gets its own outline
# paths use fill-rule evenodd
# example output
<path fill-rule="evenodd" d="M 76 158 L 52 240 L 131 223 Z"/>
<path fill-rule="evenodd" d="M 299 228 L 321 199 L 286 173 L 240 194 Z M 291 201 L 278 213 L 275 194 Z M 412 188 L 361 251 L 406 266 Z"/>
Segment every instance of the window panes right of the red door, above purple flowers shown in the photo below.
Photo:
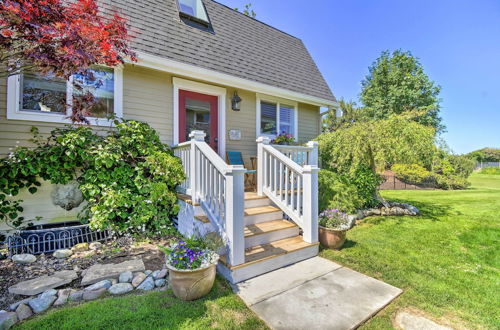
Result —
<path fill-rule="evenodd" d="M 282 133 L 292 134 L 297 138 L 297 105 L 293 102 L 259 101 L 258 135 L 276 136 Z"/>

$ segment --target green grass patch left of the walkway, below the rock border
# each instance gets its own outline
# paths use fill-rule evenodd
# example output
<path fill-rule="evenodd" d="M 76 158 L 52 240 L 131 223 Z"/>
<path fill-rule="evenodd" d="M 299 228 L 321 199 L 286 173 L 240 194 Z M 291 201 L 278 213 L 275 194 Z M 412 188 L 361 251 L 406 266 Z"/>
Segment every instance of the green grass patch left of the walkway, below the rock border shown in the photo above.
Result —
<path fill-rule="evenodd" d="M 19 329 L 267 329 L 217 279 L 204 298 L 185 302 L 166 292 L 110 297 L 77 306 L 52 309 L 21 323 Z"/>

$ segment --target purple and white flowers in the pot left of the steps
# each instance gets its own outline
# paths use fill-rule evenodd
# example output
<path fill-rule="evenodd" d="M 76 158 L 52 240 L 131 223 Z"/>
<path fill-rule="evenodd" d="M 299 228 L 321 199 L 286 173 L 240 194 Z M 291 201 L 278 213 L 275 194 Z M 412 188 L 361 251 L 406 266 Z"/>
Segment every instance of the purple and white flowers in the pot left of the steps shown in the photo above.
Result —
<path fill-rule="evenodd" d="M 195 270 L 216 264 L 219 255 L 192 242 L 179 241 L 167 250 L 167 264 L 176 269 Z"/>

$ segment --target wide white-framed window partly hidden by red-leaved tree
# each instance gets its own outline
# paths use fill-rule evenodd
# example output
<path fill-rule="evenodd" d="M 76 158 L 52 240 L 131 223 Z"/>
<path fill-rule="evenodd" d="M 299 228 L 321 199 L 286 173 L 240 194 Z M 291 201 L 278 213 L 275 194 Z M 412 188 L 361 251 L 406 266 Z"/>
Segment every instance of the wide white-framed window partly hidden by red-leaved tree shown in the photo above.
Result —
<path fill-rule="evenodd" d="M 89 81 L 74 75 L 68 81 L 53 76 L 24 73 L 8 78 L 7 119 L 45 122 L 70 122 L 71 104 L 75 99 L 90 92 L 96 100 L 89 118 L 92 124 L 108 125 L 111 114 L 122 115 L 121 69 L 93 69 L 96 78 Z M 78 82 L 81 89 L 75 88 Z"/>

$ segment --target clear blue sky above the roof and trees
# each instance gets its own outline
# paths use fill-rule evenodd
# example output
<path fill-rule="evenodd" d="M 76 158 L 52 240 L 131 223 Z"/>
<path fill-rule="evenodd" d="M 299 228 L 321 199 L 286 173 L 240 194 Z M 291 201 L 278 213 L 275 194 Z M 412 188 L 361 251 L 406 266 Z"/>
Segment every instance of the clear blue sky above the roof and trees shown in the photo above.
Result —
<path fill-rule="evenodd" d="M 500 148 L 500 0 L 218 0 L 305 43 L 334 95 L 358 100 L 383 50 L 409 50 L 441 86 L 455 153 Z"/>

